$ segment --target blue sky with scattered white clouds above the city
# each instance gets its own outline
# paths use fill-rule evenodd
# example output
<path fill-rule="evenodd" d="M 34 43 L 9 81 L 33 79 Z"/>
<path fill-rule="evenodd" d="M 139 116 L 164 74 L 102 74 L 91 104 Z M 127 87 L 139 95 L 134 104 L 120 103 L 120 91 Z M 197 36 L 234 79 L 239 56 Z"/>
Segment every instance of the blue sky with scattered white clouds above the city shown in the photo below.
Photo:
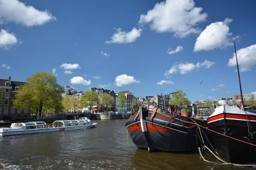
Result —
<path fill-rule="evenodd" d="M 161 2 L 0 0 L 0 78 L 55 68 L 59 84 L 82 91 L 233 97 L 235 40 L 243 93 L 256 91 L 256 1 Z"/>

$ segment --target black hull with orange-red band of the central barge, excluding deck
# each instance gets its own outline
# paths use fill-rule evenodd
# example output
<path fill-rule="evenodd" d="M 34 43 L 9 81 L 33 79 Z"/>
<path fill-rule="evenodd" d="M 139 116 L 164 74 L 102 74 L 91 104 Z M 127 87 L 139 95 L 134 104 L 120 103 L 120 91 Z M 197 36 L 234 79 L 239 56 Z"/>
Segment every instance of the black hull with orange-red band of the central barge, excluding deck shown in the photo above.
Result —
<path fill-rule="evenodd" d="M 172 123 L 166 125 L 165 121 L 154 119 L 150 122 L 148 118 L 145 118 L 145 123 L 147 131 L 144 132 L 140 118 L 137 118 L 136 122 L 130 119 L 125 124 L 132 141 L 139 148 L 148 149 L 148 151 L 189 153 L 202 147 L 201 137 L 198 136 L 200 132 L 196 126 L 183 127 Z"/>

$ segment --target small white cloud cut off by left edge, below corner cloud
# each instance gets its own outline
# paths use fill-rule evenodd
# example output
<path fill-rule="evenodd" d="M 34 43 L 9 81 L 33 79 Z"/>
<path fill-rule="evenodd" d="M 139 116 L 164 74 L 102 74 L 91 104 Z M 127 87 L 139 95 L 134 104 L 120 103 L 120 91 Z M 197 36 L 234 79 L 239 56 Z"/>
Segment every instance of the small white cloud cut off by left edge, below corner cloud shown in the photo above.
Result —
<path fill-rule="evenodd" d="M 8 31 L 1 29 L 0 31 L 0 48 L 8 49 L 17 43 L 15 34 L 10 34 Z"/>

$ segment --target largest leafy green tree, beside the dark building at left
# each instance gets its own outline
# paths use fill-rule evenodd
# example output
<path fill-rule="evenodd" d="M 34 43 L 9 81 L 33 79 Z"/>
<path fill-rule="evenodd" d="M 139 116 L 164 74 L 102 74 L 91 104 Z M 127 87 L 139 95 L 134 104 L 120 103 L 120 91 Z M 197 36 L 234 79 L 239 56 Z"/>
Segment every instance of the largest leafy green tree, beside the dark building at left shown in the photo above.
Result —
<path fill-rule="evenodd" d="M 20 109 L 31 109 L 39 111 L 42 115 L 43 109 L 55 108 L 61 104 L 61 93 L 64 88 L 57 83 L 57 79 L 51 73 L 38 72 L 27 78 L 27 82 L 19 87 L 15 95 L 14 107 Z M 51 100 L 51 101 L 49 101 Z"/>

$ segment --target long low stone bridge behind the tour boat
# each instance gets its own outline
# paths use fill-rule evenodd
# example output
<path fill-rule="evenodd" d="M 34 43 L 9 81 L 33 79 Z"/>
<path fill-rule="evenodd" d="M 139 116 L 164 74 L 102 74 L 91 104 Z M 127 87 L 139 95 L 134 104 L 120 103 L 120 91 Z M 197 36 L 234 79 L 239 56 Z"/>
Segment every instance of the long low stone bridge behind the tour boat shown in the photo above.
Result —
<path fill-rule="evenodd" d="M 74 113 L 63 116 L 63 119 L 73 120 L 78 117 L 87 117 L 90 120 L 109 120 L 109 119 L 129 119 L 129 115 L 109 115 L 109 114 L 92 114 L 92 113 Z"/>

